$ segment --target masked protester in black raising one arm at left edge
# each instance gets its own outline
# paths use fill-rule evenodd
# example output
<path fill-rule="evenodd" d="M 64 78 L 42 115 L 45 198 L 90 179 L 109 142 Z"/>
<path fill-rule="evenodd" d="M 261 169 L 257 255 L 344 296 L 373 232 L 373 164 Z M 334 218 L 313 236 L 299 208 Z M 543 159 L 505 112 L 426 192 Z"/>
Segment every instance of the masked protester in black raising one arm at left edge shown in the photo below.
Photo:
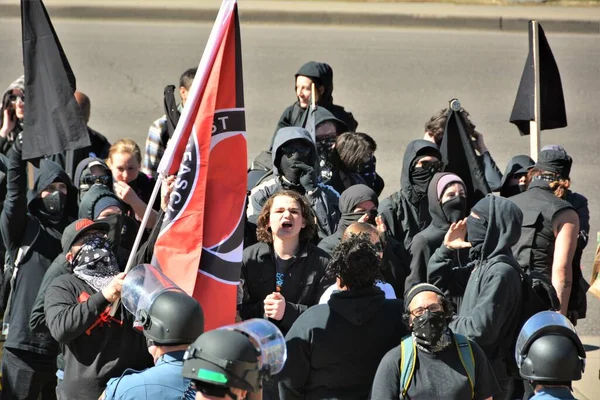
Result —
<path fill-rule="evenodd" d="M 33 190 L 17 139 L 8 152 L 7 195 L 0 220 L 2 238 L 15 266 L 4 324 L 8 326 L 2 360 L 2 395 L 54 398 L 58 344 L 49 333 L 29 328 L 30 314 L 44 273 L 61 252 L 60 238 L 77 211 L 77 190 L 56 163 L 41 160 Z"/>

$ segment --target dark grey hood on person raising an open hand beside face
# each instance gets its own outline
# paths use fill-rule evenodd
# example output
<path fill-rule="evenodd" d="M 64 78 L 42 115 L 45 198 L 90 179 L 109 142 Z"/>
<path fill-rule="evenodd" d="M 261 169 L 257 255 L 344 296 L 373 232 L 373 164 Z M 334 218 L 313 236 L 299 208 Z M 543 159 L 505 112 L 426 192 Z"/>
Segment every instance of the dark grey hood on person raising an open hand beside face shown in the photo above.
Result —
<path fill-rule="evenodd" d="M 481 259 L 487 260 L 500 254 L 512 256 L 511 248 L 521 237 L 523 213 L 519 207 L 504 197 L 488 194 L 475 204 L 471 212 L 487 221 Z"/>

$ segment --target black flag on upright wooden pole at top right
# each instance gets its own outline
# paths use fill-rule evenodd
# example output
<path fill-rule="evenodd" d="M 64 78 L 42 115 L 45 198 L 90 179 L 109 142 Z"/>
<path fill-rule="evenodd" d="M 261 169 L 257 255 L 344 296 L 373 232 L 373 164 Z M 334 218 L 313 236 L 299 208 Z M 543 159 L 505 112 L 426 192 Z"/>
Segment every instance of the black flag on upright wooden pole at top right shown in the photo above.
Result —
<path fill-rule="evenodd" d="M 538 123 L 540 131 L 564 128 L 567 126 L 567 113 L 565 111 L 565 98 L 562 91 L 560 72 L 558 72 L 558 65 L 556 65 L 556 60 L 554 60 L 542 25 L 538 24 L 538 27 L 541 119 Z M 529 122 L 535 119 L 533 29 L 534 24 L 529 21 L 529 54 L 521 76 L 515 105 L 510 114 L 510 122 L 519 128 L 521 135 L 529 135 Z"/>

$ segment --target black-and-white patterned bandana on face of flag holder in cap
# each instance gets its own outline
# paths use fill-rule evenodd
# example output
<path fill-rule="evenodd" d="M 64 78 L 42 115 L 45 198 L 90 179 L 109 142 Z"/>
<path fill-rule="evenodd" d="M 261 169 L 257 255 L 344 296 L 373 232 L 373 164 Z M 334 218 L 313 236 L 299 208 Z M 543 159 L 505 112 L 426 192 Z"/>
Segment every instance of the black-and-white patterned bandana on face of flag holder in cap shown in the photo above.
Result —
<path fill-rule="evenodd" d="M 117 260 L 103 235 L 87 237 L 72 265 L 73 274 L 98 292 L 119 273 Z"/>

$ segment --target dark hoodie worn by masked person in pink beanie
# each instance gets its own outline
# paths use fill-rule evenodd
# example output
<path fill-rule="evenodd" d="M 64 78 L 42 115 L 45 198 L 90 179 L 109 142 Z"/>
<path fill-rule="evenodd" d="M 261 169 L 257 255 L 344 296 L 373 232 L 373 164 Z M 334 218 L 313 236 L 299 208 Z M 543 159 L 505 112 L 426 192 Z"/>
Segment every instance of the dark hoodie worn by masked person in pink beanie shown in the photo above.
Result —
<path fill-rule="evenodd" d="M 442 211 L 442 205 L 437 194 L 437 184 L 446 175 L 452 175 L 452 173 L 437 173 L 429 183 L 427 197 L 429 198 L 431 224 L 417 233 L 411 243 L 410 275 L 406 277 L 405 285 L 407 290 L 418 283 L 427 282 L 427 263 L 429 262 L 429 258 L 442 245 L 444 236 L 446 236 L 446 232 L 450 228 L 450 222 L 448 222 Z M 469 251 L 466 249 L 454 251 L 453 259 L 455 265 L 466 265 L 469 262 Z"/>

